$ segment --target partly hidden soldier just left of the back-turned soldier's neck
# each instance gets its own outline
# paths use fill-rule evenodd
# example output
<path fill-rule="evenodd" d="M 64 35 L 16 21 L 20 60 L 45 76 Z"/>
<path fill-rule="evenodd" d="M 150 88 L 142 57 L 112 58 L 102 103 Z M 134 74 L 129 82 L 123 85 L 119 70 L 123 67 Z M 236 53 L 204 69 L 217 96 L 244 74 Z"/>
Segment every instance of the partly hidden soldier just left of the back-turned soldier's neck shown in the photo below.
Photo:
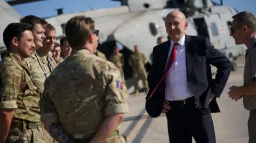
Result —
<path fill-rule="evenodd" d="M 60 39 L 60 48 L 61 48 L 61 54 L 60 54 L 60 60 L 59 62 L 63 62 L 72 52 L 72 48 L 68 44 L 67 37 L 63 37 Z"/>

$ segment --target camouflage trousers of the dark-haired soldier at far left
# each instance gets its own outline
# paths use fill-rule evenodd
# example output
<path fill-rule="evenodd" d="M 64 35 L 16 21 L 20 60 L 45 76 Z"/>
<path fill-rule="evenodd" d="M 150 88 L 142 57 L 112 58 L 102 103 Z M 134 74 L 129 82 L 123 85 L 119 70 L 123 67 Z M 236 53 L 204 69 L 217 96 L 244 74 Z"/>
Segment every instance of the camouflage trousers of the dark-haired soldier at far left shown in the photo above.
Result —
<path fill-rule="evenodd" d="M 13 128 L 10 131 L 12 135 L 7 138 L 6 143 L 57 143 L 43 127 L 24 131 Z"/>

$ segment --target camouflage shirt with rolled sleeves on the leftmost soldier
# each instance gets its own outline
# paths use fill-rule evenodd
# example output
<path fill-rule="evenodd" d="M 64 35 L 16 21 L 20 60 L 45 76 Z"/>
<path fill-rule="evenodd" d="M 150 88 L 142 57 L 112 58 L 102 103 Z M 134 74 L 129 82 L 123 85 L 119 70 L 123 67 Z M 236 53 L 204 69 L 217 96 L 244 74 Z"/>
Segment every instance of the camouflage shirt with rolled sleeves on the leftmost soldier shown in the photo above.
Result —
<path fill-rule="evenodd" d="M 0 63 L 0 110 L 14 109 L 13 121 L 40 121 L 39 91 L 22 62 L 10 53 Z"/>

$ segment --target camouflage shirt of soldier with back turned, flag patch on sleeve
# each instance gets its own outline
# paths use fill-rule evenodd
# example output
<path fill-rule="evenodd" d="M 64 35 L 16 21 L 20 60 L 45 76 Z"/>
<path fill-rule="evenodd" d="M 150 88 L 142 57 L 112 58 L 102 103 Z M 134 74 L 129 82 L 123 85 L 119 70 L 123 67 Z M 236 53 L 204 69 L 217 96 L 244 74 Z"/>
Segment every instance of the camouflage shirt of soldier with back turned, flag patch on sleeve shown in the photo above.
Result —
<path fill-rule="evenodd" d="M 89 138 L 106 116 L 129 112 L 128 97 L 117 67 L 82 49 L 66 58 L 46 79 L 41 120 L 55 122 L 58 114 L 71 137 Z"/>

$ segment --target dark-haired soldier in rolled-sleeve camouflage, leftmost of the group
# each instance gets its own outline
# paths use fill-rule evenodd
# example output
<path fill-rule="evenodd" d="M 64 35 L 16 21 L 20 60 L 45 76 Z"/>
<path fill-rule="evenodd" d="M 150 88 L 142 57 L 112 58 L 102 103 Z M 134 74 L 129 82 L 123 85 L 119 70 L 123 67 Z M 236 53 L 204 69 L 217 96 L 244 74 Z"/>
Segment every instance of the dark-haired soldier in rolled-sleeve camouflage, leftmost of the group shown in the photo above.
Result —
<path fill-rule="evenodd" d="M 0 142 L 49 142 L 40 121 L 39 91 L 21 62 L 33 54 L 32 31 L 28 23 L 11 23 L 3 33 L 8 53 L 0 63 Z"/>

